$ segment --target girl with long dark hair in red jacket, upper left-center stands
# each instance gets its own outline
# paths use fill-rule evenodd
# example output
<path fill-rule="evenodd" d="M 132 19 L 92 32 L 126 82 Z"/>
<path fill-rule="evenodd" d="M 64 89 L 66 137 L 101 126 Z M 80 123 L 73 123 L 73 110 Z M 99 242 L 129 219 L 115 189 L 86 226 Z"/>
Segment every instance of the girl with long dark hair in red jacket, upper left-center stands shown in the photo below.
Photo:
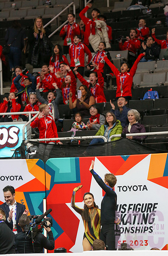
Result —
<path fill-rule="evenodd" d="M 62 47 L 59 44 L 56 44 L 53 49 L 53 55 L 50 58 L 50 65 L 54 66 L 54 73 L 56 74 L 59 71 L 59 65 L 61 63 L 66 63 L 69 65 L 67 58 L 63 55 Z"/>

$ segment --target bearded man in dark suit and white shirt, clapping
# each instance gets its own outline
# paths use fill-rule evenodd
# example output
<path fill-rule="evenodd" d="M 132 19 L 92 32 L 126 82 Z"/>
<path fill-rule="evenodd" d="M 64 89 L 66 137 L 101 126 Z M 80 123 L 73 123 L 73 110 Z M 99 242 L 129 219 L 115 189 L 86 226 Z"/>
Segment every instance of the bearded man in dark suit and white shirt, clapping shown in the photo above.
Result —
<path fill-rule="evenodd" d="M 28 215 L 28 210 L 25 209 L 24 204 L 17 203 L 14 199 L 15 190 L 13 186 L 6 186 L 3 189 L 3 195 L 5 203 L 0 205 L 6 214 L 6 224 L 14 232 L 14 234 L 22 232 L 22 229 L 18 225 L 19 218 L 22 214 Z"/>

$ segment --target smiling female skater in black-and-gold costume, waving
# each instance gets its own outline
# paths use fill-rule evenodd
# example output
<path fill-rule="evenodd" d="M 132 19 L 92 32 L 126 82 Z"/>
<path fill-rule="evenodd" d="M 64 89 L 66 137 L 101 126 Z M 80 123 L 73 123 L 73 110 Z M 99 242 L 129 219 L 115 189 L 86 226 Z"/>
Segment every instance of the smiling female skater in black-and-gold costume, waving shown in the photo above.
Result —
<path fill-rule="evenodd" d="M 84 251 L 86 251 L 92 250 L 93 241 L 99 239 L 101 210 L 98 209 L 95 204 L 94 196 L 90 192 L 84 193 L 84 209 L 80 209 L 75 205 L 75 194 L 81 187 L 82 185 L 73 189 L 71 207 L 81 215 L 84 221 L 84 239 L 82 244 Z"/>

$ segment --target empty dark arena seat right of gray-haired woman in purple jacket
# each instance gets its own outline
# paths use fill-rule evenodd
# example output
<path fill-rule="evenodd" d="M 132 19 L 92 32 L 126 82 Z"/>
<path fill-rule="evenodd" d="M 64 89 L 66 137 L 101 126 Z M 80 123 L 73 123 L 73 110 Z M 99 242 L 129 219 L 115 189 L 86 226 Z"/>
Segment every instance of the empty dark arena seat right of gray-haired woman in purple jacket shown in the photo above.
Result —
<path fill-rule="evenodd" d="M 143 116 L 143 125 L 148 126 L 162 126 L 167 122 L 167 114 L 164 115 L 155 115 L 155 116 Z"/>

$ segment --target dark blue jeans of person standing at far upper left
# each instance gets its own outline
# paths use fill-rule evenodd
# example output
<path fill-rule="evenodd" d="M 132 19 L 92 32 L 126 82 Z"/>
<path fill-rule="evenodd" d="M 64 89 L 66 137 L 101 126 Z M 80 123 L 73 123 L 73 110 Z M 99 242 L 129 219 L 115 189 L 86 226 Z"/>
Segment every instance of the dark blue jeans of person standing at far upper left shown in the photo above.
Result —
<path fill-rule="evenodd" d="M 10 70 L 16 66 L 20 66 L 21 64 L 21 55 L 22 55 L 22 52 L 21 52 L 21 49 L 18 48 L 18 47 L 13 47 L 13 46 L 10 46 L 10 52 L 9 52 L 9 67 L 10 67 Z"/>

